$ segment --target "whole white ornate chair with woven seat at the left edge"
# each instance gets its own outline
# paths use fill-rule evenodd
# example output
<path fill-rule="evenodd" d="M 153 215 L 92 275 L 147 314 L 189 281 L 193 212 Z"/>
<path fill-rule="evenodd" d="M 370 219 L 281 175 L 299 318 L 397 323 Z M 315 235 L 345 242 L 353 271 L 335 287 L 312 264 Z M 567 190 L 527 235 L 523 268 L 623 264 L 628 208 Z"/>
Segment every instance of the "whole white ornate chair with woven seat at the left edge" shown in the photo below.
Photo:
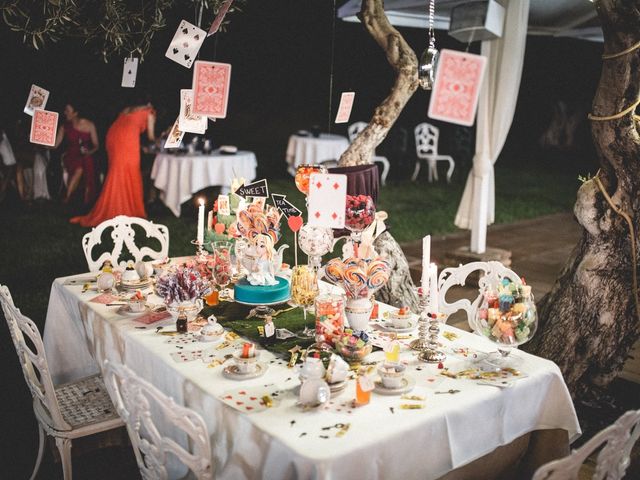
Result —
<path fill-rule="evenodd" d="M 42 462 L 46 433 L 55 439 L 60 451 L 64 479 L 71 480 L 71 441 L 121 427 L 124 423 L 99 375 L 54 387 L 38 327 L 20 313 L 4 285 L 0 285 L 0 303 L 38 420 L 40 442 L 31 479 L 35 478 Z"/>

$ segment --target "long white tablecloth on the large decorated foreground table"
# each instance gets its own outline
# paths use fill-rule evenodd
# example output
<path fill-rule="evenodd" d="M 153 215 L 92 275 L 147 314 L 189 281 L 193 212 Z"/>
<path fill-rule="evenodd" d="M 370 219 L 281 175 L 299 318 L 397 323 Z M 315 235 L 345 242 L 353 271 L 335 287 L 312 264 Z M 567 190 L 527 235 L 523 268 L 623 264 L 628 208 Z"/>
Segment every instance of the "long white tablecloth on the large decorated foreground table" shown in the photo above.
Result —
<path fill-rule="evenodd" d="M 209 368 L 201 360 L 176 363 L 175 346 L 155 333 L 162 321 L 140 328 L 116 307 L 89 303 L 96 292 L 81 293 L 78 286 L 54 281 L 45 325 L 45 348 L 56 382 L 97 372 L 104 359 L 126 363 L 180 403 L 200 413 L 211 435 L 214 477 L 217 479 L 348 479 L 437 478 L 465 465 L 500 445 L 534 430 L 561 428 L 570 438 L 580 433 L 573 404 L 558 367 L 547 360 L 514 352 L 528 376 L 506 389 L 479 385 L 473 380 L 439 376 L 436 365 L 419 362 L 403 349 L 401 358 L 416 381 L 411 394 L 426 398 L 421 410 L 400 409 L 399 397 L 372 395 L 371 403 L 357 409 L 303 411 L 293 392 L 279 398 L 277 407 L 259 413 L 241 413 L 221 402 L 225 392 L 273 384 L 292 388 L 293 370 L 271 353 L 261 352 L 269 367 L 261 377 L 244 382 L 228 380 L 222 367 Z M 158 302 L 159 299 L 151 298 Z M 381 305 L 381 312 L 389 307 Z M 277 321 L 276 321 L 277 323 Z M 137 327 L 137 328 L 136 328 Z M 442 338 L 444 348 L 472 347 L 493 351 L 488 340 L 453 327 L 459 338 Z M 208 344 L 185 346 L 184 350 Z M 372 354 L 371 359 L 381 358 Z M 95 360 L 94 360 L 95 359 Z M 270 363 L 273 361 L 272 363 Z M 461 357 L 449 355 L 445 366 L 463 368 Z M 430 381 L 430 379 L 432 379 Z M 455 395 L 435 391 L 458 389 Z M 335 402 L 354 397 L 351 381 Z M 348 432 L 335 436 L 337 423 L 349 423 Z"/>

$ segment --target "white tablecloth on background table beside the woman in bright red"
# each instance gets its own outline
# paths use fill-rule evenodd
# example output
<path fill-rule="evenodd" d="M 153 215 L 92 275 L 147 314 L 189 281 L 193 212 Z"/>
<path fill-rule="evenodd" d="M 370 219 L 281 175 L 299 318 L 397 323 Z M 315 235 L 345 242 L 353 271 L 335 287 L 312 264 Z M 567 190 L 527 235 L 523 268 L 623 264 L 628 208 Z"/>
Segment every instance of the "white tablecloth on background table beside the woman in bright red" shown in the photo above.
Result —
<path fill-rule="evenodd" d="M 258 162 L 253 152 L 238 151 L 235 155 L 221 155 L 214 151 L 209 155 L 173 155 L 159 153 L 153 162 L 151 178 L 160 190 L 160 199 L 176 217 L 180 205 L 207 187 L 221 186 L 227 193 L 234 177 L 246 181 L 256 178 Z"/>

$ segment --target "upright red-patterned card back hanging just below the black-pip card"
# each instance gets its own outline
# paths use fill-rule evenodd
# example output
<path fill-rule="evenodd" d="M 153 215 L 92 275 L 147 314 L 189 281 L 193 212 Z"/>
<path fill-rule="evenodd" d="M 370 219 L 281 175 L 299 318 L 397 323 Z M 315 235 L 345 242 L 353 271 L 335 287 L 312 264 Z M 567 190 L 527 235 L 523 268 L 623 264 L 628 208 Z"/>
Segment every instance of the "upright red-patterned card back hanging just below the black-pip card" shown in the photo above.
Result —
<path fill-rule="evenodd" d="M 193 72 L 193 111 L 211 118 L 225 118 L 229 102 L 231 64 L 198 60 Z"/>

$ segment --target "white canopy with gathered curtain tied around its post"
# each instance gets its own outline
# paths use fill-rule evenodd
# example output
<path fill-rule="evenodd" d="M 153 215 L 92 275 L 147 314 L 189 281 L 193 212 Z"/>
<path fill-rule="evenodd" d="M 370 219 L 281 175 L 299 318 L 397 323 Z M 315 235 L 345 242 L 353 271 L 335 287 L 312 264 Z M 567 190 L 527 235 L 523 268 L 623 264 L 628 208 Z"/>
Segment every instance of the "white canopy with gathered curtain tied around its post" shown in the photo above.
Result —
<path fill-rule="evenodd" d="M 435 27 L 449 29 L 451 9 L 471 0 L 436 0 Z M 385 11 L 396 26 L 427 28 L 428 0 L 386 0 Z M 470 251 L 486 250 L 487 226 L 494 221 L 493 164 L 506 140 L 520 88 L 526 35 L 551 35 L 602 41 L 595 7 L 589 0 L 503 0 L 505 25 L 501 38 L 483 41 L 485 75 L 478 104 L 476 153 L 458 207 L 455 224 L 471 229 Z M 361 0 L 339 10 L 345 21 L 359 21 Z M 420 54 L 420 52 L 417 52 Z M 500 94 L 498 95 L 498 92 Z"/>

